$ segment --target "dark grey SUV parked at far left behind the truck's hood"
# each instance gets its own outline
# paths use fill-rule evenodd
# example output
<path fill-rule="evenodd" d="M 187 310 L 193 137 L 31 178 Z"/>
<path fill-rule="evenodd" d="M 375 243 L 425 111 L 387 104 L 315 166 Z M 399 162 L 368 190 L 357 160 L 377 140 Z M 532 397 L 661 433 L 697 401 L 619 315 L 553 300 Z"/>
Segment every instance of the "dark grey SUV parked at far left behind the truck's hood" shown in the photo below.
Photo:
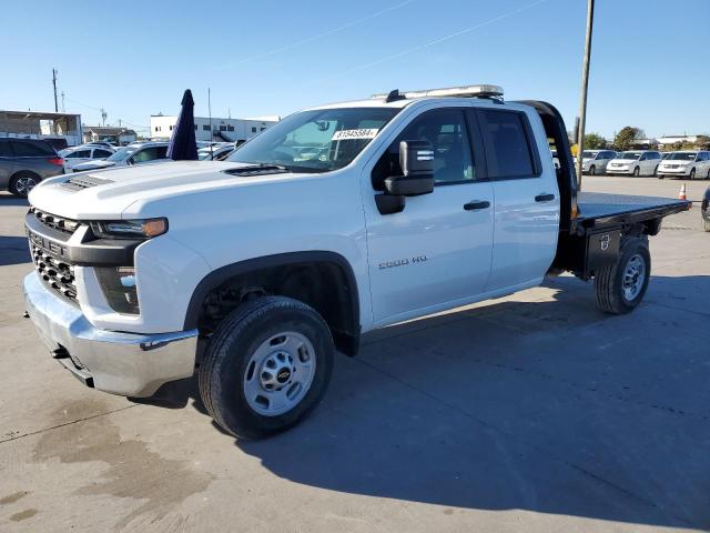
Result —
<path fill-rule="evenodd" d="M 0 138 L 0 191 L 26 198 L 44 178 L 64 173 L 64 161 L 41 139 Z"/>

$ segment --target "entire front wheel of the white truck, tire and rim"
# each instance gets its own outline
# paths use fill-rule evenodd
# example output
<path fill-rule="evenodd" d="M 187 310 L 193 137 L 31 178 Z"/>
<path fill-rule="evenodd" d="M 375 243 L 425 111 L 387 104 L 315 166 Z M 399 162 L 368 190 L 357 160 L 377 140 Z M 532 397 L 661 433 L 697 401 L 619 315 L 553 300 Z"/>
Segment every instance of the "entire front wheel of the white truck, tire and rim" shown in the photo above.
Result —
<path fill-rule="evenodd" d="M 200 395 L 233 435 L 271 435 L 318 404 L 334 352 L 331 331 L 315 310 L 290 298 L 257 298 L 217 326 L 200 365 Z"/>

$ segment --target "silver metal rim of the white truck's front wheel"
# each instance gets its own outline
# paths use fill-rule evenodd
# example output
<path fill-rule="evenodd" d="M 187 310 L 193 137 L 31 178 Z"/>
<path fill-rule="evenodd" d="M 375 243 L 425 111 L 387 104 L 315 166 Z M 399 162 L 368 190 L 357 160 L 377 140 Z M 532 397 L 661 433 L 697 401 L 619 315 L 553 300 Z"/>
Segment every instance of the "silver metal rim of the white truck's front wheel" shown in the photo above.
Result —
<path fill-rule="evenodd" d="M 264 416 L 277 416 L 295 408 L 315 376 L 313 343 L 301 333 L 284 331 L 260 344 L 246 364 L 244 396 Z"/>

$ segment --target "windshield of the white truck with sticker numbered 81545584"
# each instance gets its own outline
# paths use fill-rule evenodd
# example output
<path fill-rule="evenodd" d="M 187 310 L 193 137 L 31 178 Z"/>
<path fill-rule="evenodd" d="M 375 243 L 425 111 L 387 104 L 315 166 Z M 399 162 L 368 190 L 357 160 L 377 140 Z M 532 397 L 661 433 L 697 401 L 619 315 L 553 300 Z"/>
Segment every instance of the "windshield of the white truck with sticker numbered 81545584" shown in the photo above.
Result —
<path fill-rule="evenodd" d="M 342 169 L 398 111 L 338 108 L 294 113 L 242 144 L 226 161 L 282 164 L 292 172 Z"/>

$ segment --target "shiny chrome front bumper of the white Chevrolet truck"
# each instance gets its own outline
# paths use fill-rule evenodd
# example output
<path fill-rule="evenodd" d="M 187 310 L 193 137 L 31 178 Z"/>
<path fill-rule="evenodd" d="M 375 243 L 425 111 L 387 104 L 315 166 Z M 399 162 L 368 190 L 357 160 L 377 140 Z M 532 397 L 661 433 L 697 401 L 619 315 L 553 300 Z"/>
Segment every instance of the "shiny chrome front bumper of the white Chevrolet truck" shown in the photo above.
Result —
<path fill-rule="evenodd" d="M 100 330 L 78 306 L 24 278 L 24 305 L 52 355 L 89 386 L 122 396 L 150 396 L 194 372 L 197 330 L 153 335 Z"/>

